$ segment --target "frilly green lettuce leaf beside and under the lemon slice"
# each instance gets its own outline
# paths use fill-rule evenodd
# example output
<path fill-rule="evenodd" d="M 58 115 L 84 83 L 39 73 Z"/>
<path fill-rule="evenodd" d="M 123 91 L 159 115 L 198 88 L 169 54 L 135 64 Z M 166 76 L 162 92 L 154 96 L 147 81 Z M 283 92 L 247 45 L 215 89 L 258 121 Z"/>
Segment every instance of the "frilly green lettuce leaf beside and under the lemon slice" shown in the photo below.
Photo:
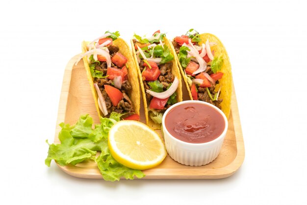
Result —
<path fill-rule="evenodd" d="M 104 180 L 115 181 L 121 177 L 126 179 L 142 178 L 145 175 L 140 170 L 130 169 L 118 163 L 110 154 L 107 137 L 112 125 L 120 120 L 123 114 L 112 112 L 110 118 L 101 118 L 101 124 L 92 129 L 93 119 L 81 115 L 74 126 L 61 123 L 59 140 L 61 144 L 49 144 L 45 164 L 50 166 L 55 160 L 60 166 L 76 165 L 86 159 L 95 160 Z M 48 141 L 46 141 L 48 143 Z M 96 157 L 97 151 L 101 154 Z"/>

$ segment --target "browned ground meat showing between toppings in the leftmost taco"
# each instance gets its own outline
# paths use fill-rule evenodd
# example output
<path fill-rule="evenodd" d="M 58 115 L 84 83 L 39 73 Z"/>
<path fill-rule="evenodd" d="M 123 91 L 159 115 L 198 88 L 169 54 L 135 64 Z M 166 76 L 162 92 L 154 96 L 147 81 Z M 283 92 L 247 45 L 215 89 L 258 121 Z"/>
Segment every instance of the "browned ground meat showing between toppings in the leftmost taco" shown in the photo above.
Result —
<path fill-rule="evenodd" d="M 119 51 L 119 48 L 117 46 L 110 45 L 107 47 L 110 53 L 110 56 L 116 54 L 116 52 Z M 113 68 L 119 68 L 118 66 L 111 63 L 111 67 Z M 95 69 L 98 71 L 103 72 L 103 76 L 106 76 L 107 72 L 107 66 L 106 62 L 101 62 L 100 65 L 96 64 Z M 121 69 L 121 68 L 119 68 Z M 102 96 L 104 98 L 106 108 L 108 110 L 108 115 L 106 117 L 110 117 L 111 112 L 117 112 L 117 113 L 132 113 L 134 112 L 132 102 L 128 96 L 128 91 L 132 90 L 131 83 L 128 80 L 125 80 L 122 83 L 122 89 L 121 92 L 123 93 L 123 99 L 117 104 L 117 106 L 114 106 L 108 96 L 108 94 L 105 92 L 104 85 L 111 85 L 113 86 L 113 80 L 105 78 L 94 78 L 94 83 L 98 84 L 98 87 L 100 88 L 102 92 Z"/>

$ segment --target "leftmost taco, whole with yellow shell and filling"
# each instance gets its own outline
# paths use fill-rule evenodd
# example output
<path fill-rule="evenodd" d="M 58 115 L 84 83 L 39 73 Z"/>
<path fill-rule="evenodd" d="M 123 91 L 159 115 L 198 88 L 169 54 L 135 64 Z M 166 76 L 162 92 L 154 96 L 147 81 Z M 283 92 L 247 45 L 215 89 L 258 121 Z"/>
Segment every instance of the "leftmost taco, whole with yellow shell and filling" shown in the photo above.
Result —
<path fill-rule="evenodd" d="M 106 31 L 92 42 L 83 41 L 78 61 L 83 58 L 99 116 L 117 112 L 126 119 L 139 120 L 137 70 L 128 44 L 119 35 L 118 31 Z"/>

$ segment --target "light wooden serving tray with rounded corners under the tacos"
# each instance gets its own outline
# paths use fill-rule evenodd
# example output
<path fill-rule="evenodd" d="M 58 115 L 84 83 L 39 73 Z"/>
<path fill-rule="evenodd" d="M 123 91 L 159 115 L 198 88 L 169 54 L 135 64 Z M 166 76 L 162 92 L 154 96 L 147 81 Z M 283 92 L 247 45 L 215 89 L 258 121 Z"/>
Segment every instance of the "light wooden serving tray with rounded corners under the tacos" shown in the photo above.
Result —
<path fill-rule="evenodd" d="M 65 69 L 54 143 L 60 143 L 58 133 L 61 128 L 58 124 L 61 122 L 74 125 L 81 114 L 90 114 L 90 116 L 93 117 L 94 123 L 99 123 L 83 61 L 81 60 L 77 66 L 75 66 L 77 56 L 78 55 L 68 62 Z M 184 86 L 182 92 L 183 100 L 188 100 L 187 90 Z M 141 122 L 145 122 L 142 100 L 140 117 Z M 146 177 L 142 179 L 221 179 L 231 176 L 243 163 L 245 154 L 234 88 L 232 88 L 231 112 L 228 123 L 228 132 L 221 152 L 213 162 L 199 167 L 185 166 L 174 161 L 167 155 L 159 166 L 153 169 L 144 170 L 143 172 Z M 157 130 L 157 133 L 161 135 L 160 130 Z M 76 166 L 67 165 L 59 167 L 64 172 L 74 177 L 102 179 L 96 163 L 92 160 L 86 160 Z"/>

